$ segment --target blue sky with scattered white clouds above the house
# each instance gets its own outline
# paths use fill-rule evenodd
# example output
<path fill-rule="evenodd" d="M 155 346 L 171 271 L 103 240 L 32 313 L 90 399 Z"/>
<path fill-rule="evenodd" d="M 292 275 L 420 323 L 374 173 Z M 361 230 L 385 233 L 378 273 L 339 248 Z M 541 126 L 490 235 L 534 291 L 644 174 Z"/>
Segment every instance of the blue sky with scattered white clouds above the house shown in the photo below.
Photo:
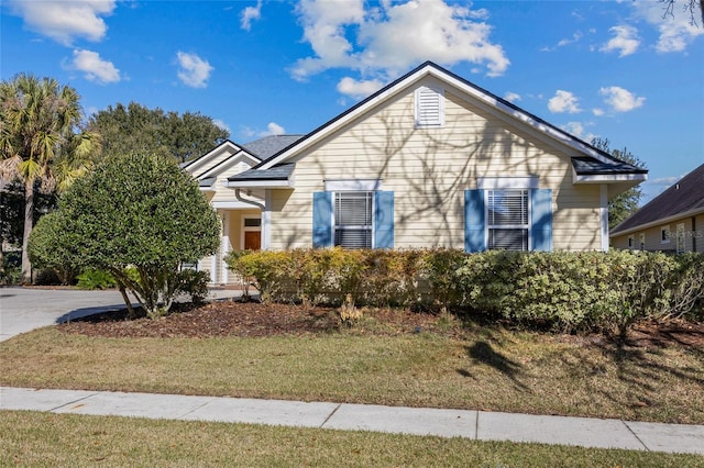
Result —
<path fill-rule="evenodd" d="M 200 112 L 246 143 L 308 133 L 432 60 L 626 147 L 650 198 L 704 163 L 704 27 L 684 3 L 4 0 L 0 75 L 54 77 L 87 113 Z"/>

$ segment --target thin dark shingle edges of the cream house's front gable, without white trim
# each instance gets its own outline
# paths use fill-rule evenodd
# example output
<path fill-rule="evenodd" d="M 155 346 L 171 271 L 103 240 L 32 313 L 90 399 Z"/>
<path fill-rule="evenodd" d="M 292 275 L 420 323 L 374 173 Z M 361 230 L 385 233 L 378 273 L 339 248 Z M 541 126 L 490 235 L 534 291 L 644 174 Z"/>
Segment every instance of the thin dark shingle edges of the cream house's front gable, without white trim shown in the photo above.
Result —
<path fill-rule="evenodd" d="M 452 78 L 463 82 L 464 85 L 480 91 L 481 93 L 484 93 L 487 97 L 491 97 L 492 99 L 501 102 L 503 105 L 506 105 L 510 109 L 513 109 L 514 111 L 517 111 L 526 116 L 528 116 L 529 119 L 532 119 L 535 122 L 538 122 L 542 125 L 546 125 L 548 127 L 550 127 L 552 131 L 558 132 L 569 138 L 571 138 L 574 142 L 580 143 L 581 145 L 585 145 L 586 147 L 588 147 L 590 149 L 596 152 L 600 157 L 603 157 L 612 163 L 603 163 L 600 161 L 596 158 L 592 158 L 592 157 L 585 157 L 582 158 L 583 161 L 578 161 L 575 165 L 575 170 L 578 170 L 578 166 L 582 167 L 583 170 L 585 170 L 585 172 L 583 172 L 583 175 L 600 175 L 600 174 L 608 174 L 608 175 L 615 175 L 615 174 L 648 174 L 647 169 L 642 169 L 636 166 L 631 166 L 629 164 L 626 164 L 617 158 L 615 158 L 614 156 L 612 156 L 610 154 L 578 138 L 576 136 L 565 132 L 564 130 L 557 127 L 554 125 L 552 125 L 549 122 L 546 122 L 544 120 L 540 119 L 537 115 L 531 114 L 530 112 L 525 111 L 524 109 L 519 108 L 518 105 L 503 99 L 499 98 L 498 96 L 485 90 L 484 88 L 481 88 L 476 85 L 474 85 L 471 81 L 468 81 L 466 79 L 462 78 L 459 75 L 453 74 L 452 71 L 432 63 L 432 62 L 426 62 L 424 64 L 421 64 L 420 66 L 416 67 L 415 69 L 408 71 L 406 75 L 402 76 L 400 78 L 392 81 L 391 83 L 386 85 L 385 87 L 383 87 L 382 89 L 380 89 L 378 91 L 374 92 L 372 96 L 370 96 L 369 98 L 358 102 L 355 105 L 351 107 L 350 109 L 348 109 L 346 111 L 342 112 L 341 114 L 339 114 L 338 116 L 333 118 L 332 120 L 326 122 L 324 124 L 320 125 L 319 127 L 317 127 L 316 130 L 314 130 L 312 132 L 308 133 L 307 135 L 304 135 L 302 137 L 299 137 L 296 141 L 292 141 L 292 143 L 287 146 L 284 146 L 282 148 L 279 148 L 278 152 L 272 154 L 268 157 L 262 157 L 262 161 L 260 164 L 257 164 L 256 166 L 254 166 L 251 170 L 257 170 L 260 167 L 266 165 L 267 163 L 270 163 L 272 159 L 275 159 L 278 155 L 285 153 L 286 151 L 290 149 L 292 147 L 294 147 L 296 144 L 310 138 L 312 135 L 318 134 L 319 132 L 323 131 L 324 129 L 327 129 L 328 126 L 330 126 L 331 124 L 333 124 L 334 122 L 337 122 L 338 120 L 344 118 L 345 115 L 348 115 L 349 113 L 354 112 L 354 110 L 359 109 L 360 107 L 363 107 L 364 104 L 366 104 L 367 102 L 372 101 L 373 99 L 375 99 L 377 96 L 386 92 L 388 89 L 395 87 L 397 83 L 404 81 L 405 79 L 407 79 L 408 77 L 410 77 L 411 75 L 420 71 L 422 68 L 425 67 L 432 67 L 436 70 L 439 70 L 443 74 L 447 74 L 448 76 L 451 76 Z M 573 158 L 574 159 L 574 158 Z M 591 160 L 590 160 L 591 159 Z M 574 164 L 574 163 L 573 163 Z M 588 167 L 588 169 L 587 169 Z M 601 172 L 600 172 L 601 171 Z M 581 174 L 578 170 L 578 174 Z"/>

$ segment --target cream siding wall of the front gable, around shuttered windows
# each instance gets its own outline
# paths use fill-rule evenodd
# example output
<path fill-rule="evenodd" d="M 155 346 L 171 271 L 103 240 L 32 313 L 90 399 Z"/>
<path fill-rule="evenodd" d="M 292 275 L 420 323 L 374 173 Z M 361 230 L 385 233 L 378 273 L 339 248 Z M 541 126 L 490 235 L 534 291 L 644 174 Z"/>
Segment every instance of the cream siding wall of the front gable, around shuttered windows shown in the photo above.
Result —
<path fill-rule="evenodd" d="M 414 129 L 414 93 L 331 135 L 296 161 L 296 189 L 272 193 L 272 248 L 310 247 L 312 192 L 333 179 L 394 191 L 394 246 L 464 248 L 464 190 L 477 177 L 538 176 L 552 189 L 553 248 L 601 249 L 600 188 L 574 186 L 566 148 L 446 91 L 441 129 Z"/>

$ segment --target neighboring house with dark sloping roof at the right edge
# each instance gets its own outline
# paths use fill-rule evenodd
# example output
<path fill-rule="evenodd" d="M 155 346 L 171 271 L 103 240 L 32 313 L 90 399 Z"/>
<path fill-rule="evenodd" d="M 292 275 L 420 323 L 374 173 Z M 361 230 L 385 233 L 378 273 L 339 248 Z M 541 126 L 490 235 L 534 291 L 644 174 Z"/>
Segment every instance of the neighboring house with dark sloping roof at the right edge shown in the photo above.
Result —
<path fill-rule="evenodd" d="M 614 248 L 704 252 L 704 164 L 614 227 Z"/>

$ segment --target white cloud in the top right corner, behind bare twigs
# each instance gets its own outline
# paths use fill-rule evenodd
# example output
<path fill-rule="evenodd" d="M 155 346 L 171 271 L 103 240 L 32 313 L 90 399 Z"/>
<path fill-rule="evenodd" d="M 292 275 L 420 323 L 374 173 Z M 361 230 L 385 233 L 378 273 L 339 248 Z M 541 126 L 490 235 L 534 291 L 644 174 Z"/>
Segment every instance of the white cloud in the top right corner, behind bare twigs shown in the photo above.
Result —
<path fill-rule="evenodd" d="M 679 2 L 678 2 L 679 3 Z M 694 42 L 697 36 L 704 35 L 704 27 L 691 23 L 690 12 L 676 8 L 674 15 L 664 15 L 663 3 L 654 1 L 631 2 L 636 13 L 654 26 L 660 36 L 656 44 L 656 51 L 660 53 L 682 52 Z M 698 2 L 695 2 L 695 8 Z M 694 11 L 694 18 L 700 19 L 701 11 Z"/>

